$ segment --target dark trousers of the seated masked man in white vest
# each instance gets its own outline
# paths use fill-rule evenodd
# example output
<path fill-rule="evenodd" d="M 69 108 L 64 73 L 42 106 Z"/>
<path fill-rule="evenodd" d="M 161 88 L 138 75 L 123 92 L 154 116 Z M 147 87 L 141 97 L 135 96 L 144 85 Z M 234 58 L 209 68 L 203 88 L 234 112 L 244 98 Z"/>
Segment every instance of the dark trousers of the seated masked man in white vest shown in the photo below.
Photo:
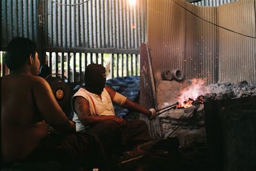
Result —
<path fill-rule="evenodd" d="M 147 123 L 138 119 L 127 122 L 125 126 L 120 126 L 116 121 L 107 120 L 88 128 L 86 132 L 97 135 L 106 152 L 131 150 L 135 145 L 149 140 Z M 115 138 L 109 138 L 109 136 Z"/>

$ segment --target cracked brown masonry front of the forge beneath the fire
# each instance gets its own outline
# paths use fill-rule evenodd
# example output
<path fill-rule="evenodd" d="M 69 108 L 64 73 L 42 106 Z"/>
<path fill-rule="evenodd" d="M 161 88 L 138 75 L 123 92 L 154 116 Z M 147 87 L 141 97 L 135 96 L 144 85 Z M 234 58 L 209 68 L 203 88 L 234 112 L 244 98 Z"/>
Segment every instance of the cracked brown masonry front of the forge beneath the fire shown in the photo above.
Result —
<path fill-rule="evenodd" d="M 180 147 L 205 142 L 204 105 L 177 108 L 161 114 L 163 137 L 178 137 Z"/>

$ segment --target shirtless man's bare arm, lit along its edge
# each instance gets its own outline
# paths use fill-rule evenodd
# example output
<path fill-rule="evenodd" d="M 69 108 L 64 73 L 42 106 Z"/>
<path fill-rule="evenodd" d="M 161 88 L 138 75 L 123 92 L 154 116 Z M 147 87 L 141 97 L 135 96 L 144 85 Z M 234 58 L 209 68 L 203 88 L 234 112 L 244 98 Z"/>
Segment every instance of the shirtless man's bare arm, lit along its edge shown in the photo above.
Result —
<path fill-rule="evenodd" d="M 40 77 L 36 82 L 33 86 L 35 103 L 45 122 L 58 131 L 76 131 L 75 124 L 68 121 L 68 117 L 54 98 L 50 85 Z"/>

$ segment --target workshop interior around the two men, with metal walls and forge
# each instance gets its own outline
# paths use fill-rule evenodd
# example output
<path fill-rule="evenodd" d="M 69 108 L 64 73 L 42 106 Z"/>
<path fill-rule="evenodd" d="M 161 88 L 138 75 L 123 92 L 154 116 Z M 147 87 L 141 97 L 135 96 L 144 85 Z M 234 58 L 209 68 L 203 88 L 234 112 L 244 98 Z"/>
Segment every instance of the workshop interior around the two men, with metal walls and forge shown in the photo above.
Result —
<path fill-rule="evenodd" d="M 150 121 L 114 105 L 152 138 L 118 170 L 256 170 L 256 0 L 2 0 L 1 77 L 18 36 L 38 45 L 39 77 L 68 119 L 92 63 L 116 92 L 156 108 Z"/>

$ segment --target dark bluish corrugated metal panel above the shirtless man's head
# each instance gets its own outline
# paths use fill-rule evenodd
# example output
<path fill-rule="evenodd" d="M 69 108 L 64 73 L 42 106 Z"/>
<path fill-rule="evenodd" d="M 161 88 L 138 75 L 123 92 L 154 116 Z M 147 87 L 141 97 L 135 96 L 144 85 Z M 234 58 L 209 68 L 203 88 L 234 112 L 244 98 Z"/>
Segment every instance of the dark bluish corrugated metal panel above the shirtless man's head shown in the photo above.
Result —
<path fill-rule="evenodd" d="M 13 37 L 38 38 L 37 0 L 1 1 L 1 48 Z"/>

